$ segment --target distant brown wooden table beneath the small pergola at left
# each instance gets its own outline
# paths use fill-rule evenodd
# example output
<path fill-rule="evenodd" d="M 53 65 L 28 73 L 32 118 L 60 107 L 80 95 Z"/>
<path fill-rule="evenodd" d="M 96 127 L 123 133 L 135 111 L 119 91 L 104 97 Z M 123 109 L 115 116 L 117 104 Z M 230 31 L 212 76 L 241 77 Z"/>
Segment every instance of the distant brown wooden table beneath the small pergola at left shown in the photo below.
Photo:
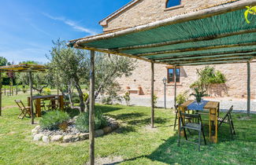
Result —
<path fill-rule="evenodd" d="M 62 95 L 45 95 L 45 96 L 33 96 L 35 100 L 35 114 L 37 117 L 41 117 L 41 100 L 50 100 L 51 98 L 58 97 L 59 108 L 64 109 L 64 100 Z M 52 103 L 55 104 L 55 101 Z M 28 106 L 30 106 L 30 97 L 28 97 Z"/>

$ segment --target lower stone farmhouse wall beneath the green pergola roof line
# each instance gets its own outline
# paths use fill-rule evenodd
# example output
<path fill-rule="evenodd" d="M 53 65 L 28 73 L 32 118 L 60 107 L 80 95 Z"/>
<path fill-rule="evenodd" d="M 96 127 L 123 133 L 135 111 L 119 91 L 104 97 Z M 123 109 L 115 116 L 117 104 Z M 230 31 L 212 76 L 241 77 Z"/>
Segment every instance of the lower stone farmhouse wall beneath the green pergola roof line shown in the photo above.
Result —
<path fill-rule="evenodd" d="M 214 84 L 210 88 L 210 94 L 213 97 L 247 97 L 247 64 L 217 64 L 210 65 L 221 71 L 227 78 L 225 84 Z M 167 77 L 167 66 L 163 64 L 154 65 L 154 92 L 161 96 L 164 94 L 164 85 L 162 79 Z M 204 68 L 205 66 L 193 66 L 180 68 L 180 83 L 177 83 L 177 94 L 190 90 L 189 86 L 198 78 L 196 68 Z M 251 97 L 255 97 L 256 92 L 256 64 L 250 64 L 251 69 Z M 141 86 L 143 94 L 150 94 L 151 68 L 150 63 L 146 61 L 138 61 L 138 67 L 129 77 L 118 79 L 121 84 L 122 93 L 129 86 L 131 89 L 137 89 Z M 174 84 L 169 83 L 166 90 L 169 96 L 174 95 Z"/>

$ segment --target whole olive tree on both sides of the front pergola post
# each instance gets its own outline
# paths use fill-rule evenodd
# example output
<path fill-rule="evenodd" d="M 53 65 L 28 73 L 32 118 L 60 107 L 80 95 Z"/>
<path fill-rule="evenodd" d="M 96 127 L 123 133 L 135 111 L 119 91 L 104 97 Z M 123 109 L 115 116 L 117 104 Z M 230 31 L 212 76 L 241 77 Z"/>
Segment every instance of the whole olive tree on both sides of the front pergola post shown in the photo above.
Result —
<path fill-rule="evenodd" d="M 73 49 L 65 45 L 64 41 L 53 42 L 54 46 L 50 51 L 50 70 L 58 75 L 62 93 L 68 88 L 72 93 L 72 86 L 78 92 L 80 98 L 80 112 L 86 108 L 83 103 L 83 92 L 80 84 L 89 86 L 90 56 L 87 50 Z M 120 85 L 117 78 L 132 74 L 135 68 L 135 61 L 128 57 L 109 55 L 106 53 L 95 54 L 95 99 L 98 94 L 106 94 L 108 97 L 118 97 Z M 71 94 L 69 94 L 69 97 Z M 72 99 L 69 98 L 69 101 Z M 85 101 L 88 107 L 89 98 Z"/>

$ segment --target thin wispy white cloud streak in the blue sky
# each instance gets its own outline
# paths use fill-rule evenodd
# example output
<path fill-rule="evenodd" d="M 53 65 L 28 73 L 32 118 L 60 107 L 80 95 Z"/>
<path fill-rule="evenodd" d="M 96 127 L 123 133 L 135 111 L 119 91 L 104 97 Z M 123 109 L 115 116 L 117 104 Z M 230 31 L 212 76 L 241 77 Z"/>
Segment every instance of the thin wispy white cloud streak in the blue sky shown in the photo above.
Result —
<path fill-rule="evenodd" d="M 96 34 L 97 34 L 96 31 L 93 31 L 93 30 L 91 30 L 91 29 L 89 29 L 89 28 L 86 28 L 86 27 L 81 27 L 80 25 L 76 24 L 75 21 L 73 21 L 73 20 L 68 20 L 68 19 L 66 19 L 64 16 L 51 16 L 51 15 L 48 14 L 48 13 L 43 13 L 43 15 L 46 16 L 46 17 L 48 17 L 48 18 L 50 18 L 50 19 L 52 19 L 52 20 L 60 20 L 60 21 L 62 21 L 64 24 L 67 24 L 67 25 L 69 25 L 70 27 L 72 27 L 73 29 L 76 29 L 76 30 L 78 30 L 78 31 L 83 31 L 83 32 L 86 32 L 86 33 L 88 33 L 88 34 L 90 34 L 90 35 L 96 35 Z"/>

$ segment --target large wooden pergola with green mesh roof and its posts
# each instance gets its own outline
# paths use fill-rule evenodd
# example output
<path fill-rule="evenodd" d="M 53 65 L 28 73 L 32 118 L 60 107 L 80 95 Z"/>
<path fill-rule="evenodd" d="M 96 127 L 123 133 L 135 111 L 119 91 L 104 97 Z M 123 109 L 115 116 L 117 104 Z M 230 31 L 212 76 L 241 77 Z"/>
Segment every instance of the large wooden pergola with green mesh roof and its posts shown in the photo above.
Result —
<path fill-rule="evenodd" d="M 166 20 L 69 42 L 69 46 L 77 49 L 91 50 L 89 119 L 91 164 L 94 164 L 95 137 L 93 118 L 95 51 L 151 63 L 152 127 L 154 127 L 154 64 L 176 67 L 247 63 L 247 112 L 250 112 L 250 61 L 256 57 L 256 18 L 250 16 L 251 23 L 246 23 L 243 16 L 246 6 L 256 6 L 256 0 L 231 0 Z"/>

